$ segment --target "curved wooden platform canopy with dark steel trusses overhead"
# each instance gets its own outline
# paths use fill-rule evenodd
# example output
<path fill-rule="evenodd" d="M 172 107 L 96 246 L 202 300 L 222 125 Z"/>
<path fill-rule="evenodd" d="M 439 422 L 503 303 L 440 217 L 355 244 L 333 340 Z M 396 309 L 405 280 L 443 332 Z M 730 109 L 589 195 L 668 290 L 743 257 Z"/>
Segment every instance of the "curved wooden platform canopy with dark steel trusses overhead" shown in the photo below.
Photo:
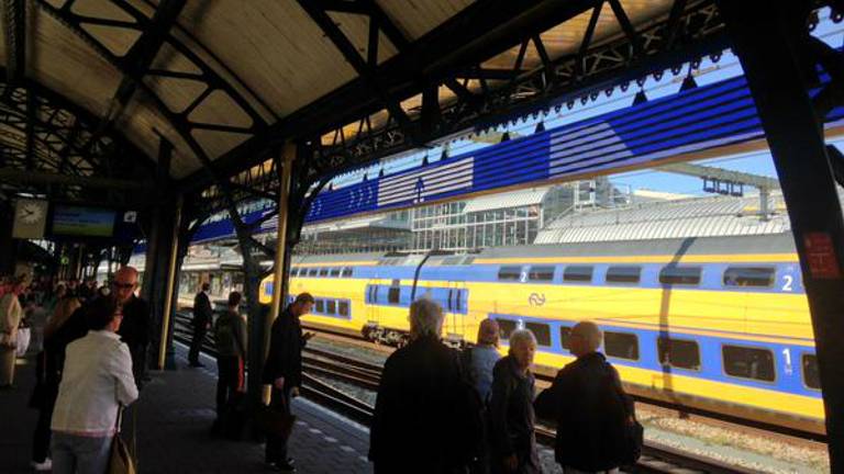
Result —
<path fill-rule="evenodd" d="M 707 0 L 7 0 L 2 25 L 12 192 L 143 188 L 162 140 L 182 191 L 287 140 L 333 173 L 725 44 Z"/>

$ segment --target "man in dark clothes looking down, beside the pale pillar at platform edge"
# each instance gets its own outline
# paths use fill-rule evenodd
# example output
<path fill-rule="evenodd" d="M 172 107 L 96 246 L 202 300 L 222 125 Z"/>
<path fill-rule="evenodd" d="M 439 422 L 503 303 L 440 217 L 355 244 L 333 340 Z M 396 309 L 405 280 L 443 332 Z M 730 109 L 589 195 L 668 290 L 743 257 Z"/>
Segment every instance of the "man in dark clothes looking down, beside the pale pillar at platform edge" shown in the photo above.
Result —
<path fill-rule="evenodd" d="M 270 409 L 290 414 L 290 399 L 299 396 L 302 384 L 302 349 L 313 332 L 302 334 L 299 317 L 311 312 L 313 296 L 300 293 L 273 323 L 269 353 L 264 364 L 263 380 L 273 386 Z M 293 472 L 292 459 L 287 456 L 287 439 L 267 439 L 266 462 L 282 472 Z"/>

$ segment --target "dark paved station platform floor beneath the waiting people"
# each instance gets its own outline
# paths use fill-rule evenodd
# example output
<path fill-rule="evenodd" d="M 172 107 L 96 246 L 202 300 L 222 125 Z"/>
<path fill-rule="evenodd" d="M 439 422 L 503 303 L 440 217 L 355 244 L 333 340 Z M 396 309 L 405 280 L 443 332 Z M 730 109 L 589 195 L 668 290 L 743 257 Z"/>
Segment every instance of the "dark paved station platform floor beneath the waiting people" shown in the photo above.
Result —
<path fill-rule="evenodd" d="M 263 444 L 210 436 L 216 368 L 213 359 L 203 356 L 204 369 L 188 369 L 186 352 L 177 346 L 179 370 L 153 372 L 153 381 L 135 404 L 141 473 L 273 472 L 264 465 Z M 34 384 L 34 363 L 29 359 L 18 369 L 16 387 L 0 392 L 3 473 L 33 472 L 31 440 L 37 413 L 26 405 Z M 292 409 L 298 420 L 289 454 L 296 459 L 298 473 L 371 472 L 366 460 L 368 429 L 301 397 Z"/>

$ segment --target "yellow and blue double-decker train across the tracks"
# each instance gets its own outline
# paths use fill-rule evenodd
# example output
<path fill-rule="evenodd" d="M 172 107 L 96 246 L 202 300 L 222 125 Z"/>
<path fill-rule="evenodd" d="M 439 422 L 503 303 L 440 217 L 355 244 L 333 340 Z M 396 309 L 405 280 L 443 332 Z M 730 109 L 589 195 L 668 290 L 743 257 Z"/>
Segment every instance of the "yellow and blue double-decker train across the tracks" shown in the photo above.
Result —
<path fill-rule="evenodd" d="M 262 301 L 273 284 L 262 284 Z M 823 432 L 814 339 L 790 234 L 489 248 L 463 256 L 297 257 L 290 293 L 316 298 L 309 325 L 401 343 L 419 297 L 444 337 L 473 342 L 484 318 L 531 329 L 536 363 L 571 360 L 580 319 L 631 392 L 654 400 Z"/>

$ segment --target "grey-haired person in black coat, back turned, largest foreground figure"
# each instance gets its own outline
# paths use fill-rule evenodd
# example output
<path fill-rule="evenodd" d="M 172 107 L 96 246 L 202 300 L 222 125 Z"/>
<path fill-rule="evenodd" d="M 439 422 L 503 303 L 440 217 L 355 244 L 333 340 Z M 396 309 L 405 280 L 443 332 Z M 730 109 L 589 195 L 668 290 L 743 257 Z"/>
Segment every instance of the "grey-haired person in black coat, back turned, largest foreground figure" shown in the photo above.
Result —
<path fill-rule="evenodd" d="M 375 474 L 465 472 L 477 448 L 480 402 L 456 351 L 440 340 L 443 313 L 430 300 L 410 306 L 408 346 L 385 362 L 369 432 Z M 474 406 L 473 406 L 474 405 Z"/>

